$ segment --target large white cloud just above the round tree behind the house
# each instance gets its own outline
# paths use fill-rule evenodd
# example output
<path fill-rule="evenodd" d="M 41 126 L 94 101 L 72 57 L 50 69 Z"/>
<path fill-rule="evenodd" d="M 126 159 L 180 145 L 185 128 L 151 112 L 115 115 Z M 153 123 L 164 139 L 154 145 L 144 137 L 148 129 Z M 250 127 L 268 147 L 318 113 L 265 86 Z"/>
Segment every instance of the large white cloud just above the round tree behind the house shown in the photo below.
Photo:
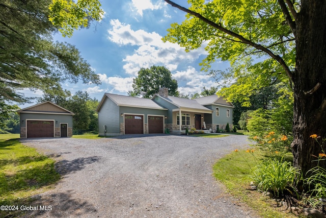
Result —
<path fill-rule="evenodd" d="M 207 55 L 204 47 L 186 53 L 184 48 L 171 42 L 164 43 L 162 36 L 144 30 L 134 31 L 130 25 L 121 23 L 118 19 L 110 21 L 112 29 L 108 30 L 108 39 L 119 45 L 138 46 L 133 54 L 127 55 L 123 61 L 123 69 L 127 74 L 137 76 L 140 68 L 148 68 L 152 65 L 163 65 L 170 70 L 177 69 L 181 62 L 192 62 L 200 55 Z"/>

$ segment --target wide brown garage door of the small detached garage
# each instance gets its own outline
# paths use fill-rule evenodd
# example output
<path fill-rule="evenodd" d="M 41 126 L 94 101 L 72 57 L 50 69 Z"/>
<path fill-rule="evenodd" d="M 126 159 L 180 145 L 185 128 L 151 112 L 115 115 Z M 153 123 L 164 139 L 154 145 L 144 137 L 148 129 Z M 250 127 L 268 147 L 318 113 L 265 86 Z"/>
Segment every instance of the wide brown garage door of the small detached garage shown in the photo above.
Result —
<path fill-rule="evenodd" d="M 27 121 L 27 137 L 41 138 L 53 137 L 53 121 L 44 120 L 28 120 Z"/>

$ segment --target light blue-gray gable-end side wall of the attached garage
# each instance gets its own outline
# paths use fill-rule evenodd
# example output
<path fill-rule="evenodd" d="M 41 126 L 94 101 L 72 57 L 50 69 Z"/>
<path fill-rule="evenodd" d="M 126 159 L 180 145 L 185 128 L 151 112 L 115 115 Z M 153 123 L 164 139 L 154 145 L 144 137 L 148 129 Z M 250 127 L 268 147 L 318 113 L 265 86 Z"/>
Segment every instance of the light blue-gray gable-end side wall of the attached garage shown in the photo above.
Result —
<path fill-rule="evenodd" d="M 98 111 L 98 134 L 100 136 L 106 134 L 120 135 L 119 117 L 119 106 L 112 100 L 105 98 Z M 104 125 L 106 126 L 106 133 L 104 133 Z"/>

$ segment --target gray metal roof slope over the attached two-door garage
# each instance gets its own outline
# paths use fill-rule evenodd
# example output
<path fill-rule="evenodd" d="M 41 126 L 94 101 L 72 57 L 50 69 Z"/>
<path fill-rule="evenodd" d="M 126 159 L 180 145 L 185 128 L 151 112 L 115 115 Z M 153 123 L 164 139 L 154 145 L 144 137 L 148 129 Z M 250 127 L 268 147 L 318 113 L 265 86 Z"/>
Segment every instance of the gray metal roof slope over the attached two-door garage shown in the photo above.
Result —
<path fill-rule="evenodd" d="M 110 98 L 112 101 L 114 101 L 118 106 L 167 110 L 167 109 L 159 106 L 158 104 L 156 104 L 151 99 L 135 98 L 135 97 L 131 97 L 131 96 L 111 94 L 111 93 L 105 93 L 105 95 L 108 98 Z"/>

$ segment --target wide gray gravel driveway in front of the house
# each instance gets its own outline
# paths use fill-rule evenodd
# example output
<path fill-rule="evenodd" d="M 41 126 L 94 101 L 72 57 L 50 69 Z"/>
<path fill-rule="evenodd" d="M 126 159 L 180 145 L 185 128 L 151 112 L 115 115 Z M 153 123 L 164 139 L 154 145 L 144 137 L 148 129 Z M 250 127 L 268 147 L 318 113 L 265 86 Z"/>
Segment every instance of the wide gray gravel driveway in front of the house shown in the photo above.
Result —
<path fill-rule="evenodd" d="M 34 196 L 24 217 L 258 217 L 212 175 L 217 159 L 246 149 L 244 135 L 221 138 L 123 135 L 22 139 L 54 158 L 62 179 Z"/>

